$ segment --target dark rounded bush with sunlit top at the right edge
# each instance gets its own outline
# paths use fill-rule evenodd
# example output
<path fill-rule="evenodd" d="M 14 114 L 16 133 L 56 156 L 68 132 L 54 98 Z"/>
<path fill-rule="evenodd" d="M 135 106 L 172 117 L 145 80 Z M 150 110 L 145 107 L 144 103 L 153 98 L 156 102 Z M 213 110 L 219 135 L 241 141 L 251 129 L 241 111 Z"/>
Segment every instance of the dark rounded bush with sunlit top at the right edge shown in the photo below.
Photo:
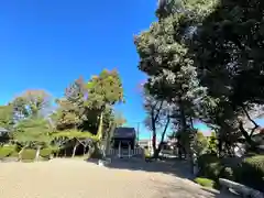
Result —
<path fill-rule="evenodd" d="M 246 157 L 234 168 L 235 182 L 264 191 L 264 155 Z"/>

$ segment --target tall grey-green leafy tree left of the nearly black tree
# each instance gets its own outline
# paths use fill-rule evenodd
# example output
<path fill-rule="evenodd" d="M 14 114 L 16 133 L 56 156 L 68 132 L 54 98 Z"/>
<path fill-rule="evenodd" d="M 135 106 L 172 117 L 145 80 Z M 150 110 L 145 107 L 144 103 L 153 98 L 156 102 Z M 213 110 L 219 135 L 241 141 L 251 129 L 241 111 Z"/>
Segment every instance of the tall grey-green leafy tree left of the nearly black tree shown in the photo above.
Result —
<path fill-rule="evenodd" d="M 198 118 L 197 102 L 204 99 L 206 89 L 199 85 L 188 54 L 189 28 L 194 24 L 195 12 L 189 9 L 190 4 L 174 3 L 169 1 L 169 8 L 175 6 L 174 9 L 158 8 L 158 21 L 135 36 L 134 42 L 140 55 L 139 68 L 148 76 L 145 87 L 150 95 L 174 106 L 173 123 L 179 133 L 188 134 L 188 153 L 193 161 L 196 134 L 193 120 Z"/>

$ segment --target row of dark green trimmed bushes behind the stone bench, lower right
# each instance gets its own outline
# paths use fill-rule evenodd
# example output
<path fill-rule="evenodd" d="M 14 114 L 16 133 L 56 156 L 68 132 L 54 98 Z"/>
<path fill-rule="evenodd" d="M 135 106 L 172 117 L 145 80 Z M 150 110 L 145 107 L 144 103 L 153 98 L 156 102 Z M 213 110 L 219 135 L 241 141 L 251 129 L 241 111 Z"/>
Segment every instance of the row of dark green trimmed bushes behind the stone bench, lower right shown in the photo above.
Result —
<path fill-rule="evenodd" d="M 235 158 L 233 158 L 235 160 Z M 234 163 L 227 163 L 216 155 L 205 154 L 198 158 L 199 175 L 213 179 L 227 178 L 263 191 L 264 155 L 250 156 Z"/>

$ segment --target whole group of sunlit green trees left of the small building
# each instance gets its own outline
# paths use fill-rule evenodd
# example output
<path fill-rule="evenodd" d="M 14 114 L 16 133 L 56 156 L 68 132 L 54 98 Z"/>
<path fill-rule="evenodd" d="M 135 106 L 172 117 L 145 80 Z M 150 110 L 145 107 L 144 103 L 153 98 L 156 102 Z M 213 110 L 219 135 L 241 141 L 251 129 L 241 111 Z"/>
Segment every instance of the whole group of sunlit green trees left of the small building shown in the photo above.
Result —
<path fill-rule="evenodd" d="M 72 150 L 75 156 L 78 147 L 82 147 L 80 153 L 85 154 L 88 147 L 101 143 L 103 136 L 125 122 L 122 114 L 114 111 L 114 105 L 123 101 L 117 70 L 102 70 L 87 82 L 78 78 L 66 88 L 64 97 L 55 101 L 54 108 L 53 98 L 46 91 L 26 90 L 8 106 L 0 107 L 0 127 L 8 130 L 9 142 L 15 145 L 20 160 L 33 154 L 38 160 L 43 151 L 58 155 Z M 8 156 L 10 151 L 1 152 Z"/>

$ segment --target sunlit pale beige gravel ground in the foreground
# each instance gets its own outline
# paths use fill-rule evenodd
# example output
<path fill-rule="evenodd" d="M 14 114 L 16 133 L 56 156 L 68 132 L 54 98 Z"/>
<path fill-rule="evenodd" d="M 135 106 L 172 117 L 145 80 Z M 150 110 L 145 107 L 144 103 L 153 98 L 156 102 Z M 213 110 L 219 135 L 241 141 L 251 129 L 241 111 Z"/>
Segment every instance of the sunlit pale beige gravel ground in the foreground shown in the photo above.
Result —
<path fill-rule="evenodd" d="M 0 166 L 0 198 L 227 198 L 169 174 L 107 168 L 81 160 Z"/>

